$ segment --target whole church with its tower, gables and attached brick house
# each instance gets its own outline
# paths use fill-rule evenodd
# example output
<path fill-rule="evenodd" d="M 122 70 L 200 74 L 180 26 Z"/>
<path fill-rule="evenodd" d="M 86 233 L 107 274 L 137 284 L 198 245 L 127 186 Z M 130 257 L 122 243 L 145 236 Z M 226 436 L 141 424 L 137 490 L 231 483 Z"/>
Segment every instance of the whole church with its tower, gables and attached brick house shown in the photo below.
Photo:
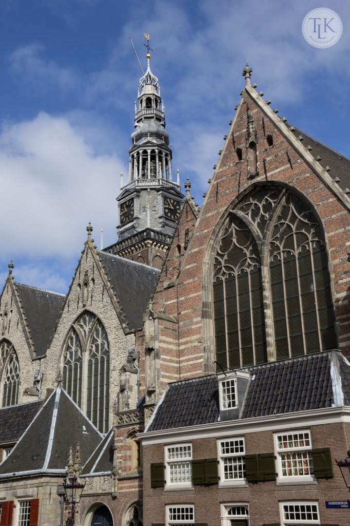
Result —
<path fill-rule="evenodd" d="M 199 209 L 148 41 L 117 241 L 66 295 L 8 265 L 0 526 L 346 526 L 350 160 L 247 64 Z"/>

